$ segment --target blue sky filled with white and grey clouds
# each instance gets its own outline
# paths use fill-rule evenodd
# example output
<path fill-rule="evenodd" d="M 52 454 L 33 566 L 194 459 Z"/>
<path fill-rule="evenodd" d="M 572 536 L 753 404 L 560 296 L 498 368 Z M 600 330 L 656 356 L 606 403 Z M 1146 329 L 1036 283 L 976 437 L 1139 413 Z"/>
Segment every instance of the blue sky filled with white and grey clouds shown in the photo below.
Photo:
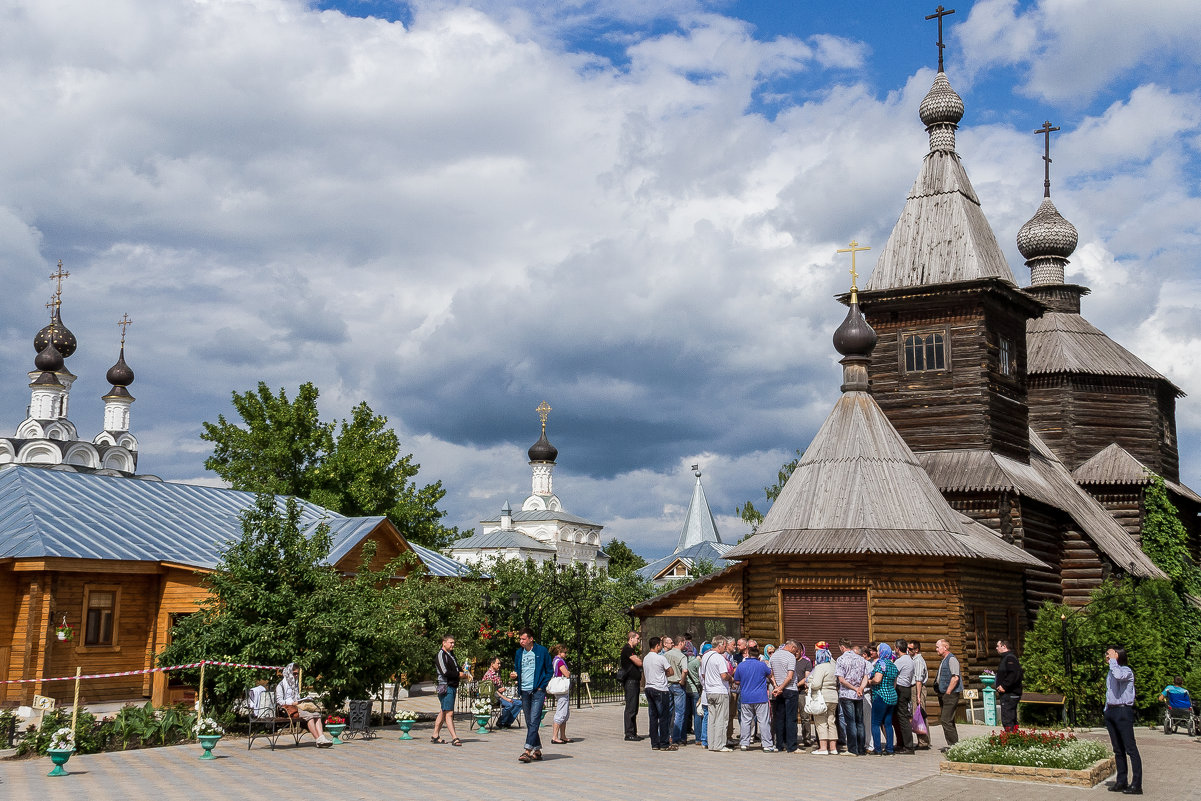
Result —
<path fill-rule="evenodd" d="M 98 429 L 129 312 L 145 472 L 213 483 L 201 423 L 312 381 L 472 527 L 528 494 L 546 400 L 567 509 L 662 555 L 699 460 L 737 540 L 837 395 L 835 250 L 884 244 L 926 153 L 934 5 L 5 0 L 0 426 L 62 259 L 71 417 Z M 1201 488 L 1201 4 L 955 7 L 958 150 L 1015 275 L 1050 119 L 1069 280 L 1189 393 Z"/>

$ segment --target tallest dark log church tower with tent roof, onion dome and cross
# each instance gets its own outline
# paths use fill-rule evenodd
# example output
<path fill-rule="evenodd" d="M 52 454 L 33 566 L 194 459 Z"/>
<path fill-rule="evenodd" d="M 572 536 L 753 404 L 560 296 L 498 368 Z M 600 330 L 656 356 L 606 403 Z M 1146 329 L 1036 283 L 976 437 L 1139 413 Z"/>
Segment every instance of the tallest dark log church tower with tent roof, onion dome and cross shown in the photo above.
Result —
<path fill-rule="evenodd" d="M 1026 321 L 1042 306 L 1017 288 L 955 150 L 963 100 L 943 68 L 920 115 L 930 151 L 860 293 L 879 335 L 876 399 L 915 452 L 1029 459 Z"/>

